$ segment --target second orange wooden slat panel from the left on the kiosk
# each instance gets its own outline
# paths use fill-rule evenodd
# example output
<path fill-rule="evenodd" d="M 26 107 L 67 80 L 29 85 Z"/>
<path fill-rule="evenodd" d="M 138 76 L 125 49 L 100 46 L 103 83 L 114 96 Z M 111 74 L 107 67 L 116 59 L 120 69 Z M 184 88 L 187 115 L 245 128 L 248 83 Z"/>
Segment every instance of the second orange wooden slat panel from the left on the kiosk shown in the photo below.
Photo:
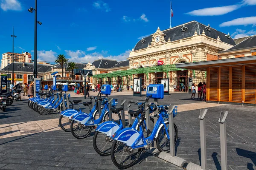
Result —
<path fill-rule="evenodd" d="M 220 101 L 230 102 L 230 67 L 220 68 Z"/>

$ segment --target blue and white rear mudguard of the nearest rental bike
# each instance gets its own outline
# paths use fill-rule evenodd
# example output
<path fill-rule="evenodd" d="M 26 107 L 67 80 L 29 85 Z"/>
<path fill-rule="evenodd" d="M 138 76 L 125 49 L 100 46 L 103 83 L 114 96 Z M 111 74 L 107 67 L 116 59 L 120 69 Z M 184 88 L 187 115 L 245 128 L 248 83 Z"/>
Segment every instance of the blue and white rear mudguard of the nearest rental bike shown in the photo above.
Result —
<path fill-rule="evenodd" d="M 142 138 L 140 137 L 140 139 L 138 139 L 139 137 L 140 133 L 138 130 L 128 127 L 118 131 L 114 136 L 114 139 L 126 143 L 127 146 L 132 146 L 133 144 L 137 146 L 143 144 Z"/>

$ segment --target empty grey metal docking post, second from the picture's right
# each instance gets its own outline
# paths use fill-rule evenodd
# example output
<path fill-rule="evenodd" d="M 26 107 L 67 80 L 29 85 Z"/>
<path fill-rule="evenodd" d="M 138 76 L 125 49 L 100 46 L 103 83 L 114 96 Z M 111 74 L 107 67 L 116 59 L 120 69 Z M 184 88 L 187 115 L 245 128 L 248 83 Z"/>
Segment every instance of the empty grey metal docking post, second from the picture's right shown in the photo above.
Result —
<path fill-rule="evenodd" d="M 208 109 L 201 109 L 199 115 L 200 122 L 200 143 L 201 143 L 201 169 L 207 169 L 207 158 L 206 158 L 206 136 L 205 136 L 205 115 Z"/>

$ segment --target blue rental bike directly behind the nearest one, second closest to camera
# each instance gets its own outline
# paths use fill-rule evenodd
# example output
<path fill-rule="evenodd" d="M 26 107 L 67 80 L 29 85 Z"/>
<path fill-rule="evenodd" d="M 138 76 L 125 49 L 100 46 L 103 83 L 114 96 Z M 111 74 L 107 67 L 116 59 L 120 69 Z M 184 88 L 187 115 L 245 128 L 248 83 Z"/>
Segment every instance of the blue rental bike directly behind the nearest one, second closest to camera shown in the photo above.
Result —
<path fill-rule="evenodd" d="M 150 99 L 152 95 L 147 96 L 145 99 L 145 102 L 133 102 L 130 101 L 130 103 L 134 103 L 135 105 L 138 105 L 139 110 L 140 109 L 144 109 L 145 107 L 145 103 L 148 102 L 148 99 Z M 108 122 L 103 122 L 102 124 L 100 124 L 97 128 L 96 128 L 96 133 L 94 133 L 93 136 L 93 148 L 94 150 L 100 155 L 100 156 L 108 156 L 111 154 L 111 147 L 113 144 L 113 134 L 118 132 L 119 130 L 122 130 L 123 125 L 122 125 L 122 120 L 121 120 L 121 115 L 120 115 L 120 111 L 122 111 L 123 108 L 111 108 L 112 113 L 117 114 L 118 116 L 118 122 L 114 122 L 114 121 L 108 121 Z M 134 120 L 133 125 L 131 126 L 131 128 L 133 129 L 137 129 L 140 130 L 138 127 L 138 121 L 142 121 L 141 118 L 141 114 L 138 115 L 138 119 Z M 154 119 L 150 117 L 150 125 L 151 129 L 153 129 L 152 127 L 154 127 Z M 146 122 L 145 120 L 143 121 L 143 132 L 147 132 L 146 131 Z"/>

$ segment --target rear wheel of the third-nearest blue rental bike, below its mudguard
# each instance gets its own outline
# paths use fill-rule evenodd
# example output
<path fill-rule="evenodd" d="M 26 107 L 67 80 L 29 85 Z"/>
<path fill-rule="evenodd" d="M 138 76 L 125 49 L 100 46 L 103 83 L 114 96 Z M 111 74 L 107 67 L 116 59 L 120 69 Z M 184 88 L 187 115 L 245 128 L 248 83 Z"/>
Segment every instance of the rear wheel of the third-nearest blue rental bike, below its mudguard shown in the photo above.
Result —
<path fill-rule="evenodd" d="M 84 139 L 90 135 L 93 130 L 93 126 L 85 126 L 74 120 L 71 121 L 70 131 L 76 139 Z"/>

